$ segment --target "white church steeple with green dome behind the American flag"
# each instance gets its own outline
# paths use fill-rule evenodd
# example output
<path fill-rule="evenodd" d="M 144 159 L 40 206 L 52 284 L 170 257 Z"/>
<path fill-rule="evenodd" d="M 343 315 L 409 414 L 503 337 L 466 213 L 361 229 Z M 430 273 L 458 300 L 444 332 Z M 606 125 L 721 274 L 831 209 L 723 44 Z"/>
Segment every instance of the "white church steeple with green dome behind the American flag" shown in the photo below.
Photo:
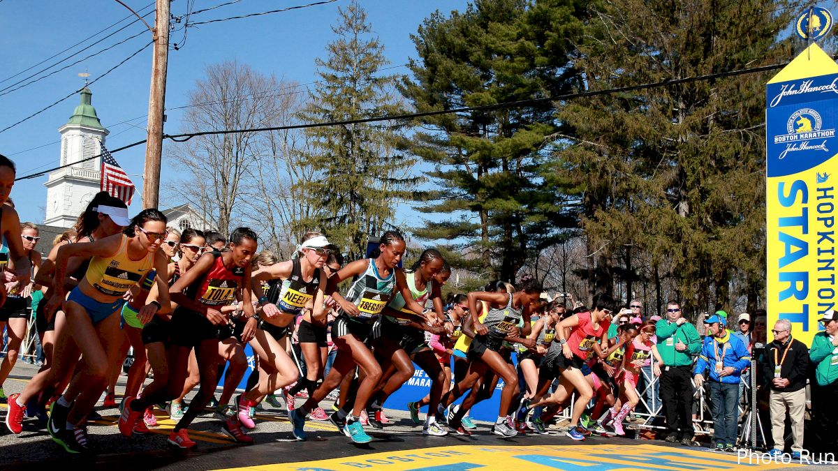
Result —
<path fill-rule="evenodd" d="M 91 105 L 90 89 L 80 91 L 81 103 L 75 107 L 70 121 L 59 127 L 61 133 L 61 165 L 70 165 L 49 173 L 45 225 L 72 227 L 93 196 L 99 191 L 101 153 L 107 129 L 102 127 L 96 109 Z"/>

